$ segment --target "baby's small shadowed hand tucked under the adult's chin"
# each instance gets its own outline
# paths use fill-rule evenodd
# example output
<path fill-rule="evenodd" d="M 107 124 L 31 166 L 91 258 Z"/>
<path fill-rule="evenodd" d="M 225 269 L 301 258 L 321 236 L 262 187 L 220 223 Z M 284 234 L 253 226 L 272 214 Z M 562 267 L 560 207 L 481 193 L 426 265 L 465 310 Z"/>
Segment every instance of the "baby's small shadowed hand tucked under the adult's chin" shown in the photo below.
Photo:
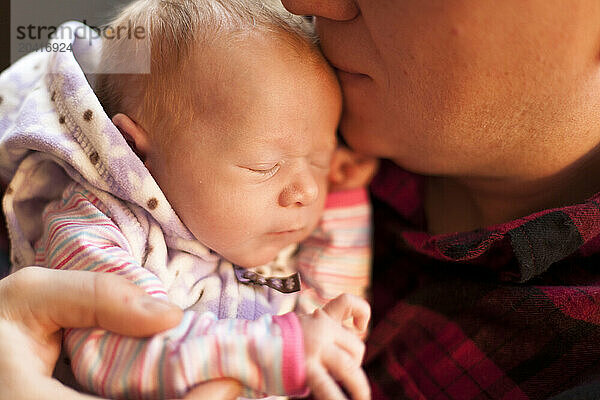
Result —
<path fill-rule="evenodd" d="M 377 171 L 376 158 L 357 154 L 347 147 L 335 149 L 329 169 L 329 191 L 365 187 Z"/>

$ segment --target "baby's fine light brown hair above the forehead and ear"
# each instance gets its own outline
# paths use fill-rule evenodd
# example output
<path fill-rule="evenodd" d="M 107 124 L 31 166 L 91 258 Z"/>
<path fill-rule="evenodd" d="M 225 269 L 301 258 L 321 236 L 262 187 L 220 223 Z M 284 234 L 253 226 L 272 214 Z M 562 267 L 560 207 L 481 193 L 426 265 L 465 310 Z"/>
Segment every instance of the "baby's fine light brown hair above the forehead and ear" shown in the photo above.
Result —
<path fill-rule="evenodd" d="M 100 103 L 109 117 L 128 113 L 161 137 L 193 118 L 194 93 L 182 72 L 202 46 L 235 46 L 236 38 L 259 33 L 285 40 L 307 61 L 320 59 L 312 22 L 289 13 L 280 0 L 137 0 L 108 27 L 143 30 L 146 41 L 103 39 L 99 71 L 105 73 L 93 77 Z M 135 62 L 149 63 L 150 74 L 106 73 Z"/>

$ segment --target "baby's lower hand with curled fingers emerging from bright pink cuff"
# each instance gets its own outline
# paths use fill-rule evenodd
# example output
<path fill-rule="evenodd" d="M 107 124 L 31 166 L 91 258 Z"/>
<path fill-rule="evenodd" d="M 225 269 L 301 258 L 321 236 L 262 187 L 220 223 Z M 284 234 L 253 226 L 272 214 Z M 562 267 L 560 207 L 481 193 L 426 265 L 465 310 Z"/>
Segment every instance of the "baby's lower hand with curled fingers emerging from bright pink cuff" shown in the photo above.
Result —
<path fill-rule="evenodd" d="M 343 294 L 312 314 L 298 316 L 304 333 L 306 378 L 316 399 L 346 399 L 334 379 L 352 399 L 371 398 L 369 382 L 360 367 L 365 345 L 359 337 L 366 332 L 370 315 L 366 301 Z M 350 317 L 356 333 L 342 326 Z"/>

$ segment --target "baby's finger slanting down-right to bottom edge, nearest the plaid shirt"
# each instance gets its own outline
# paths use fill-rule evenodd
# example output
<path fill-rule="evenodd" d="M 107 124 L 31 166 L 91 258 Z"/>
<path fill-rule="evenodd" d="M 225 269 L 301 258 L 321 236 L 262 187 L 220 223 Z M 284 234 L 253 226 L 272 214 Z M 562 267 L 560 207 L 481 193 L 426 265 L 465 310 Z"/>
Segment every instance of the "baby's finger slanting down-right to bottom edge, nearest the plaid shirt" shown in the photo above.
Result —
<path fill-rule="evenodd" d="M 371 387 L 367 375 L 360 365 L 353 363 L 350 355 L 341 349 L 332 349 L 323 354 L 323 364 L 353 400 L 369 400 Z"/>

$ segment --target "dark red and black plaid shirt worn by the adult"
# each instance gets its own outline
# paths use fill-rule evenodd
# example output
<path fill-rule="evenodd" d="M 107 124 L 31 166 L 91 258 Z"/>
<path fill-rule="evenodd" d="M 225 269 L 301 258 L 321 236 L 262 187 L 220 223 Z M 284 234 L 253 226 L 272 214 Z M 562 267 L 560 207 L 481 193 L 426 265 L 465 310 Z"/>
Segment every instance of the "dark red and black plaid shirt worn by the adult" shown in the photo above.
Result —
<path fill-rule="evenodd" d="M 600 194 L 433 236 L 423 183 L 372 184 L 373 398 L 600 399 Z"/>

